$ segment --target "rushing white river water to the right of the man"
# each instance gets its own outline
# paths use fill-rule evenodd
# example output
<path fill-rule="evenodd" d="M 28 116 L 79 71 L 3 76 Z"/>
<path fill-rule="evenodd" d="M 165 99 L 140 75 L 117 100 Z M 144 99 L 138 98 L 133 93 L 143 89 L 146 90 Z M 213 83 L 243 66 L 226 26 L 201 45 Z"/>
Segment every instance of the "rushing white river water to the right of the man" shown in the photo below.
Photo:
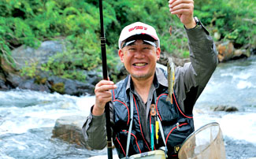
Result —
<path fill-rule="evenodd" d="M 256 57 L 218 65 L 195 105 L 195 129 L 213 121 L 221 125 L 227 158 L 256 157 Z M 213 112 L 217 105 L 236 113 Z"/>

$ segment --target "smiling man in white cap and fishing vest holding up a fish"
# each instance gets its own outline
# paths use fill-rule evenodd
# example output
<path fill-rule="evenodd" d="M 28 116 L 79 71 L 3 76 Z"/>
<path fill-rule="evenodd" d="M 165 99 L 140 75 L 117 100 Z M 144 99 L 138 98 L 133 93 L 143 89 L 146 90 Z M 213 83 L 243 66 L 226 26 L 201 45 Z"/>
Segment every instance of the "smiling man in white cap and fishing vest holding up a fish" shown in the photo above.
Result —
<path fill-rule="evenodd" d="M 106 146 L 106 102 L 110 102 L 111 130 L 119 157 L 127 155 L 129 141 L 128 156 L 167 146 L 168 157 L 176 158 L 179 146 L 194 131 L 193 106 L 217 66 L 217 53 L 209 32 L 193 17 L 192 0 L 171 0 L 169 9 L 184 24 L 191 57 L 191 63 L 176 68 L 173 101 L 166 100 L 166 72 L 156 68 L 161 54 L 156 31 L 140 22 L 128 25 L 121 31 L 118 54 L 130 75 L 117 84 L 107 80 L 96 84 L 95 105 L 83 124 L 84 139 L 91 148 Z M 163 131 L 158 139 L 151 128 L 157 121 Z"/>

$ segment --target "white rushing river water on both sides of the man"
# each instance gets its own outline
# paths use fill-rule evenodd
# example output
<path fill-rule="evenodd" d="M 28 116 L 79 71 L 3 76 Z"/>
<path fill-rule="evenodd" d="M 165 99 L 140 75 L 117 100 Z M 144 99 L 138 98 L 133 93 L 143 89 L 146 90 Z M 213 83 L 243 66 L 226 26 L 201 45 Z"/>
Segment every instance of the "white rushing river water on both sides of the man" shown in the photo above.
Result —
<path fill-rule="evenodd" d="M 255 70 L 256 57 L 218 65 L 195 105 L 195 129 L 213 121 L 221 124 L 228 159 L 256 157 Z M 0 158 L 71 159 L 106 155 L 106 150 L 82 150 L 51 138 L 59 117 L 87 116 L 94 100 L 89 96 L 18 89 L 0 91 Z M 236 106 L 239 111 L 214 112 L 217 105 Z"/>

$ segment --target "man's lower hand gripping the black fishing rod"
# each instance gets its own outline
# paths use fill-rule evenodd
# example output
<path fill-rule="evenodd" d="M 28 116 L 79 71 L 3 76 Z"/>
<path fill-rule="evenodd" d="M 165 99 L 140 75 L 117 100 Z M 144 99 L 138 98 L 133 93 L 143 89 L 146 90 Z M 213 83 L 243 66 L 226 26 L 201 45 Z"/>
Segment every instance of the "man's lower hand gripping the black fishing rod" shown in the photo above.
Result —
<path fill-rule="evenodd" d="M 100 116 L 104 113 L 106 102 L 112 100 L 112 94 L 109 90 L 116 89 L 117 86 L 109 80 L 101 80 L 95 86 L 95 106 L 92 114 Z"/>

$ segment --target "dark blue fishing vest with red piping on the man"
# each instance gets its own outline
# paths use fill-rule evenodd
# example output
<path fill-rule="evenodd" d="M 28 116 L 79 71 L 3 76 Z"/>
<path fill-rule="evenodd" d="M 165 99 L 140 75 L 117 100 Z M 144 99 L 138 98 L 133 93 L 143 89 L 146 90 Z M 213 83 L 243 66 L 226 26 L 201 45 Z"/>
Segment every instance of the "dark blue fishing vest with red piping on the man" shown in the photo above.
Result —
<path fill-rule="evenodd" d="M 129 77 L 126 77 L 124 80 L 117 83 L 117 89 L 113 91 L 113 143 L 120 158 L 126 156 L 125 150 L 128 139 L 128 128 L 131 121 L 130 97 L 125 89 L 128 78 Z M 154 150 L 159 150 L 160 147 L 165 146 L 163 143 L 163 141 L 165 141 L 168 149 L 168 158 L 177 158 L 181 144 L 187 136 L 195 130 L 193 116 L 186 115 L 180 109 L 175 94 L 173 94 L 173 104 L 166 101 L 168 87 L 158 87 L 156 94 L 157 98 L 154 99 L 154 104 L 158 117 L 161 120 L 165 139 L 162 139 L 159 132 L 158 144 L 154 144 Z M 133 123 L 128 156 L 150 151 L 151 147 L 150 142 L 147 142 L 143 134 L 143 128 L 139 119 L 139 105 L 136 101 L 135 94 L 133 94 L 132 99 Z M 148 117 L 148 123 L 151 123 L 151 120 L 151 116 Z M 157 143 L 155 136 L 154 143 Z"/>

